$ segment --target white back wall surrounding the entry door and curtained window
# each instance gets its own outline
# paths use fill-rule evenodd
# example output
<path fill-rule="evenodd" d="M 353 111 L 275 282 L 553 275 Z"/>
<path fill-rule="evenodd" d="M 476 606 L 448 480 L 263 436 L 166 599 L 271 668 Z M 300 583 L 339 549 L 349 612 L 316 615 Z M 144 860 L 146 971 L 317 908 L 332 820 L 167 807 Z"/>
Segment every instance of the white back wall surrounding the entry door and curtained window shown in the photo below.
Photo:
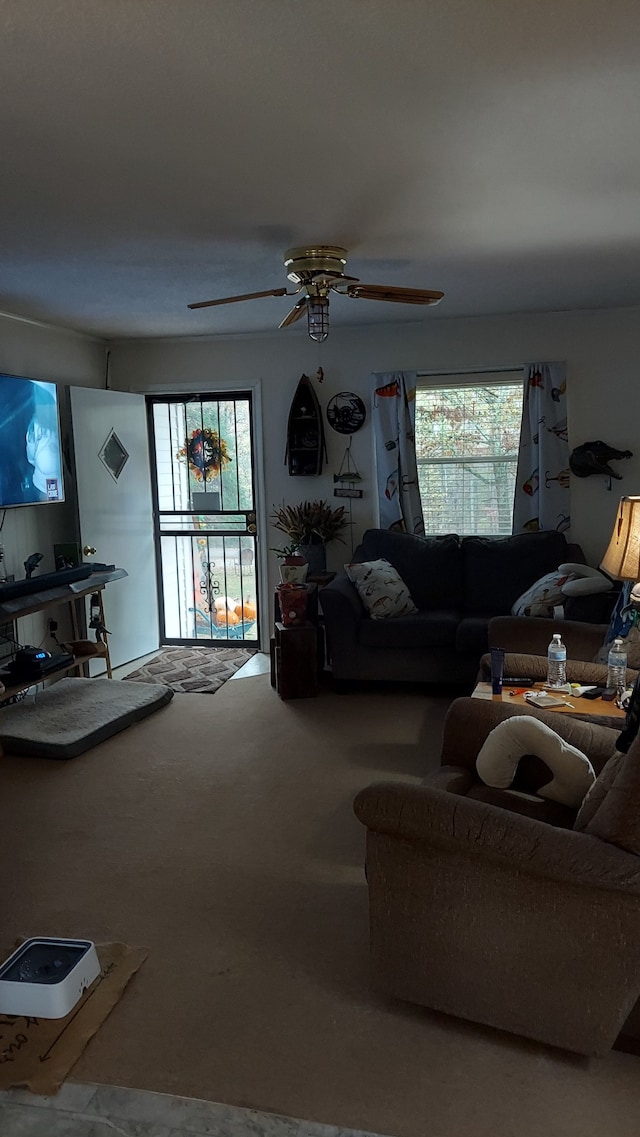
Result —
<path fill-rule="evenodd" d="M 597 565 L 622 493 L 640 492 L 640 447 L 634 422 L 640 358 L 640 309 L 610 309 L 475 317 L 434 318 L 419 323 L 341 329 L 333 326 L 318 346 L 306 331 L 286 329 L 260 337 L 135 340 L 113 345 L 111 383 L 142 392 L 207 391 L 217 383 L 261 384 L 264 431 L 264 501 L 268 513 L 282 500 L 333 498 L 347 439 L 326 428 L 329 463 L 318 478 L 291 479 L 284 466 L 289 405 L 300 375 L 314 377 L 318 363 L 324 381 L 316 385 L 323 409 L 339 391 L 355 391 L 371 408 L 371 373 L 393 370 L 424 372 L 500 367 L 525 362 L 565 359 L 568 365 L 570 447 L 592 439 L 633 451 L 614 463 L 622 481 L 593 476 L 572 479 L 572 538 Z M 365 479 L 364 498 L 354 500 L 354 540 L 376 523 L 371 420 L 352 435 L 352 454 Z M 267 531 L 267 545 L 279 542 Z M 350 550 L 334 543 L 329 566 L 338 567 Z M 275 562 L 274 557 L 269 557 Z M 275 579 L 276 565 L 269 564 Z"/>

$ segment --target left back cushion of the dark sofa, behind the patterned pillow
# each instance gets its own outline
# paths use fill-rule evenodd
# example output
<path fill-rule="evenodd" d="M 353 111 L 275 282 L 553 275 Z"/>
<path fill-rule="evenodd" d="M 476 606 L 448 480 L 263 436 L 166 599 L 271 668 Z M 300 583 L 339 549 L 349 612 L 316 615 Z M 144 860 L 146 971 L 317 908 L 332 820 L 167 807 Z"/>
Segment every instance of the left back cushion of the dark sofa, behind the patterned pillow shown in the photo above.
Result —
<path fill-rule="evenodd" d="M 460 539 L 416 537 L 391 529 L 367 529 L 361 549 L 367 561 L 385 557 L 398 570 L 418 608 L 455 608 L 463 594 Z"/>

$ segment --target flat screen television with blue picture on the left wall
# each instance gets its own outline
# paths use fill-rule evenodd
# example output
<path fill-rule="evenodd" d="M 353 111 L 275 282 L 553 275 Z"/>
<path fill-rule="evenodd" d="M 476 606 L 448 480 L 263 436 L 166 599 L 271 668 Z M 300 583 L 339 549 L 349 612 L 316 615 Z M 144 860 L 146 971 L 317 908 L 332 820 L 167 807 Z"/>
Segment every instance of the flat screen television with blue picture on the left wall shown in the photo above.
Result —
<path fill-rule="evenodd" d="M 0 372 L 0 509 L 64 500 L 56 383 Z"/>

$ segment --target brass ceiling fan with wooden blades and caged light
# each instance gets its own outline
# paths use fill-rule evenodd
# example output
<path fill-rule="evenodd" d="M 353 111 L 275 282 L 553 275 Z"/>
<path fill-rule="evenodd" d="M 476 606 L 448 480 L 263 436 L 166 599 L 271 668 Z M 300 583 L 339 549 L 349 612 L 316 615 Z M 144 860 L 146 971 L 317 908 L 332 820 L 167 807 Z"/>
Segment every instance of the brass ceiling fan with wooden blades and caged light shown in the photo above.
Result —
<path fill-rule="evenodd" d="M 443 292 L 422 288 L 394 288 L 384 284 L 360 284 L 357 276 L 347 276 L 347 249 L 339 244 L 317 244 L 311 248 L 289 249 L 284 254 L 288 279 L 298 287 L 292 292 L 286 288 L 267 289 L 265 292 L 246 292 L 243 296 L 226 296 L 221 300 L 200 300 L 189 308 L 213 308 L 218 304 L 235 304 L 238 300 L 258 300 L 265 296 L 304 296 L 293 305 L 279 327 L 289 327 L 307 315 L 307 329 L 313 340 L 322 342 L 329 335 L 329 296 L 338 292 L 355 300 L 390 300 L 393 304 L 439 304 Z"/>

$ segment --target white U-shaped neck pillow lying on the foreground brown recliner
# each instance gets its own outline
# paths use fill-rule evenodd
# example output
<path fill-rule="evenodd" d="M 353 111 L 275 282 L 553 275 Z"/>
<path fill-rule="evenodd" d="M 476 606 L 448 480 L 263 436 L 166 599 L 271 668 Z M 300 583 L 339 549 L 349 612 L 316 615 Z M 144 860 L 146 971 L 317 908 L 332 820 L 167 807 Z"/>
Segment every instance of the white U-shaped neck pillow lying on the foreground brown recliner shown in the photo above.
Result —
<path fill-rule="evenodd" d="M 487 786 L 507 789 L 525 754 L 541 758 L 552 774 L 538 795 L 577 810 L 596 781 L 593 766 L 582 750 L 570 746 L 533 715 L 514 715 L 494 727 L 484 740 L 475 767 Z"/>

